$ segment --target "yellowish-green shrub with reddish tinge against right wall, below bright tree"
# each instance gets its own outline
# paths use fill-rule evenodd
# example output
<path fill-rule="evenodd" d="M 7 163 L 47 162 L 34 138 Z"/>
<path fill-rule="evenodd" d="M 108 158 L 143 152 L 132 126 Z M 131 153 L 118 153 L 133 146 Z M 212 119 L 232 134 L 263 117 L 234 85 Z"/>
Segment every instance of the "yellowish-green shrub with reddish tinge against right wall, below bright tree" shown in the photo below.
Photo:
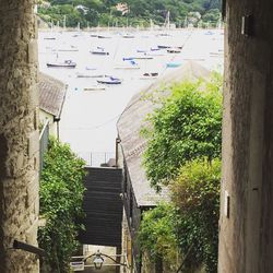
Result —
<path fill-rule="evenodd" d="M 180 168 L 171 183 L 173 201 L 180 211 L 179 247 L 189 249 L 186 265 L 204 264 L 217 272 L 221 162 L 199 158 Z"/>

